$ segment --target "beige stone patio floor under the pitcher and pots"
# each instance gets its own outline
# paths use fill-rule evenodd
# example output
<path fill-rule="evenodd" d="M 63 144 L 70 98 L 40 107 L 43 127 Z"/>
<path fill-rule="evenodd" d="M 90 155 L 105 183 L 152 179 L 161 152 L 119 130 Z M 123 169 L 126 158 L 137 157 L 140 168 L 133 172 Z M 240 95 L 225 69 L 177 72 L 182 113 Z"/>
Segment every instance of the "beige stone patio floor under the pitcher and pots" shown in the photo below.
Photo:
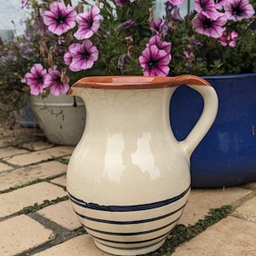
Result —
<path fill-rule="evenodd" d="M 16 143 L 17 148 L 12 132 L 0 129 L 0 255 L 109 255 L 97 249 L 89 235 L 80 235 L 80 224 L 67 200 L 67 165 L 57 159 L 68 159 L 73 147 L 47 143 L 35 129 L 26 132 L 29 137 L 39 136 Z M 210 208 L 224 205 L 233 207 L 227 218 L 177 247 L 172 255 L 255 256 L 256 182 L 192 189 L 179 223 L 195 224 Z M 35 212 L 29 211 L 37 206 Z"/>

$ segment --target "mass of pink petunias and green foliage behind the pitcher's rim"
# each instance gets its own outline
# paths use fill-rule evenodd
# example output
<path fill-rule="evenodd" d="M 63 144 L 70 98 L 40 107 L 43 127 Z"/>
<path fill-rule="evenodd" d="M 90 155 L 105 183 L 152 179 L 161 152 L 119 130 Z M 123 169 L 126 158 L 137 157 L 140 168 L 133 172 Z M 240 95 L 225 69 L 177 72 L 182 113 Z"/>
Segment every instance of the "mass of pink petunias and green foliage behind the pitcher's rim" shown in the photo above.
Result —
<path fill-rule="evenodd" d="M 24 76 L 31 93 L 65 94 L 69 84 L 93 75 L 256 72 L 249 0 L 195 0 L 185 17 L 183 0 L 167 0 L 161 18 L 153 1 L 81 0 L 73 7 L 71 0 L 23 0 L 22 8 L 32 8 L 39 53 Z"/>

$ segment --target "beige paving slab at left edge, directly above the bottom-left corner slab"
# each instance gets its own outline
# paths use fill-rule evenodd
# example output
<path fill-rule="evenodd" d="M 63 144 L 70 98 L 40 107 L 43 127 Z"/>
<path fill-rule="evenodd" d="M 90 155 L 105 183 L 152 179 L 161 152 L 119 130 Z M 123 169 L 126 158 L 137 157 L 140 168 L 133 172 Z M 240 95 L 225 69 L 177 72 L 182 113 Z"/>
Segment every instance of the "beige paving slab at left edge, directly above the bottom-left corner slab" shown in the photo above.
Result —
<path fill-rule="evenodd" d="M 23 207 L 67 195 L 64 189 L 50 183 L 37 183 L 0 195 L 0 218 L 19 212 Z"/>

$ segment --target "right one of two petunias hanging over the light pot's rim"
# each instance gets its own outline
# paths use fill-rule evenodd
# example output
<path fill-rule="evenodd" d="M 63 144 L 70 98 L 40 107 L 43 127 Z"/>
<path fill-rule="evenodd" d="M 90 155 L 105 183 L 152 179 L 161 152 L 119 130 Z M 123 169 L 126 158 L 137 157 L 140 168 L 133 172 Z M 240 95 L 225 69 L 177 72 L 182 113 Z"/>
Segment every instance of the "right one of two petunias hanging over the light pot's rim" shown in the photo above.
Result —
<path fill-rule="evenodd" d="M 69 78 L 66 77 L 65 81 L 61 80 L 61 72 L 53 68 L 48 69 L 49 76 L 46 78 L 49 84 L 49 92 L 54 96 L 66 94 L 69 90 Z"/>

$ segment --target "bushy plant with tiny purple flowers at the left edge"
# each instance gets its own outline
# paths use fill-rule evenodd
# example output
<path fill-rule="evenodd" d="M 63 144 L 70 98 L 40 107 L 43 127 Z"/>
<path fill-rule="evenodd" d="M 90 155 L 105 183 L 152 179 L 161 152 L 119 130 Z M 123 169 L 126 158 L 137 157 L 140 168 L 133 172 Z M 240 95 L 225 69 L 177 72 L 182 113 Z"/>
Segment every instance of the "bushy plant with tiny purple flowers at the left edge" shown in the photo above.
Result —
<path fill-rule="evenodd" d="M 26 31 L 3 41 L 0 38 L 0 122 L 13 119 L 14 110 L 26 104 L 29 88 L 22 83 L 26 72 L 37 62 L 40 54 L 35 41 L 30 40 L 32 24 L 26 20 Z M 2 123 L 2 122 L 1 122 Z"/>

